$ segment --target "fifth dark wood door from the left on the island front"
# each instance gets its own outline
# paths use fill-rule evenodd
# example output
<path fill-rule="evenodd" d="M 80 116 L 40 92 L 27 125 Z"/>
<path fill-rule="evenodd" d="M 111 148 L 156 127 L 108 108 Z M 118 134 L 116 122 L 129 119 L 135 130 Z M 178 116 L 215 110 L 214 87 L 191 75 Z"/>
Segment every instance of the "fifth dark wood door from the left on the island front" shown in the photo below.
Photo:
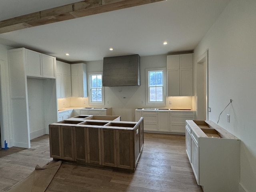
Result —
<path fill-rule="evenodd" d="M 102 165 L 116 167 L 116 129 L 101 129 L 101 156 Z"/>

